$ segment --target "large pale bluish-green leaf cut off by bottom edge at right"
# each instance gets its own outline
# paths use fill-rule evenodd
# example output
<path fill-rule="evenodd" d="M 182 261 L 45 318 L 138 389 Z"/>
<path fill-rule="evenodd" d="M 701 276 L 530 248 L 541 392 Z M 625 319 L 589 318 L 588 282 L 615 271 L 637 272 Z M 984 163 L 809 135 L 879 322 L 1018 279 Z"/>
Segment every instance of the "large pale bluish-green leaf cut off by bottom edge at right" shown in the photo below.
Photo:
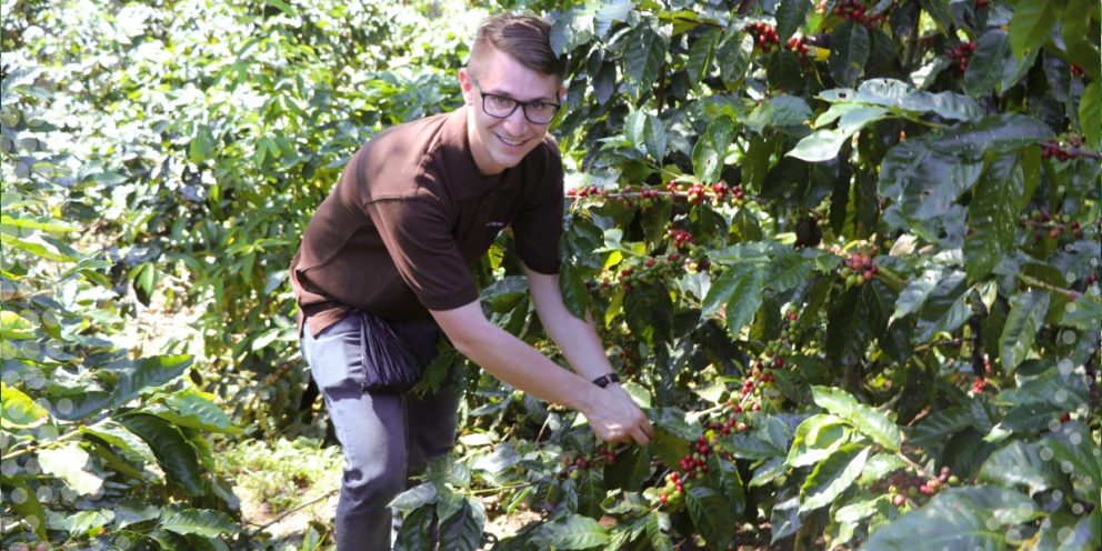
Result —
<path fill-rule="evenodd" d="M 1004 549 L 1005 527 L 1043 517 L 1033 500 L 1013 490 L 980 485 L 944 490 L 915 511 L 872 532 L 869 551 L 926 549 L 973 551 Z"/>

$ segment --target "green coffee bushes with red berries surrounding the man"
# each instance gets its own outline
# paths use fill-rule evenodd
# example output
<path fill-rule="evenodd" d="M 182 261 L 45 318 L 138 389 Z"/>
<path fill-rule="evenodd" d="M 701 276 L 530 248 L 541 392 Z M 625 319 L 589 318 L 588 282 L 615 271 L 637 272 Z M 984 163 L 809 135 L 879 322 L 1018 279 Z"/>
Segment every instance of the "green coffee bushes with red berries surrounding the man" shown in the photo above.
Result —
<path fill-rule="evenodd" d="M 1098 541 L 1099 6 L 854 6 L 490 8 L 570 54 L 563 290 L 661 435 L 600 450 L 445 353 L 464 430 L 401 545 Z M 359 143 L 459 104 L 484 9 L 2 11 L 3 547 L 324 547 L 241 503 L 340 464 L 285 267 Z M 508 248 L 487 312 L 554 353 Z"/>

